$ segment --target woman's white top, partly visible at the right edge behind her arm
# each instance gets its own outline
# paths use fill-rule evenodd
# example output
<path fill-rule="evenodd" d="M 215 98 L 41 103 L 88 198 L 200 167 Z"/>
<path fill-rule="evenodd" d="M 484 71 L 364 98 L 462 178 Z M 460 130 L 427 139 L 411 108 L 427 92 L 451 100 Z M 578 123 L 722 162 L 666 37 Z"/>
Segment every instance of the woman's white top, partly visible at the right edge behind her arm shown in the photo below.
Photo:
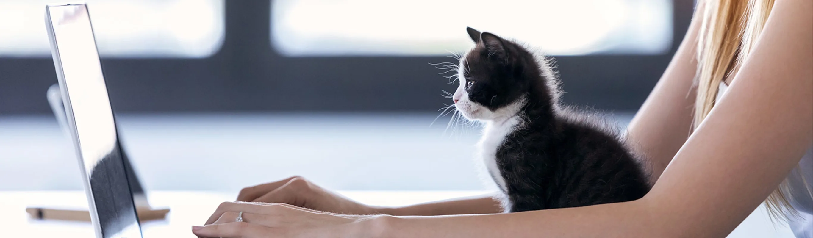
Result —
<path fill-rule="evenodd" d="M 717 92 L 717 101 L 725 94 L 728 85 L 720 83 L 720 90 Z M 800 217 L 789 219 L 790 229 L 797 238 L 813 238 L 813 145 L 807 149 L 807 153 L 799 160 L 798 167 L 793 168 L 787 177 L 790 187 L 790 205 L 797 210 Z M 807 182 L 805 185 L 804 181 Z"/>

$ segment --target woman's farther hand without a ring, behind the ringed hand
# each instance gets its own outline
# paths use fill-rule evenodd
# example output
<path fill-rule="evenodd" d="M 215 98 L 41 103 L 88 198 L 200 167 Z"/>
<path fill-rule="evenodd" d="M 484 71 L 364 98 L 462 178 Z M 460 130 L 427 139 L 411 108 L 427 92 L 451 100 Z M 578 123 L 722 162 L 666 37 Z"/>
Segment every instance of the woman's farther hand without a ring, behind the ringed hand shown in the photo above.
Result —
<path fill-rule="evenodd" d="M 243 188 L 237 201 L 285 203 L 337 214 L 378 214 L 380 208 L 366 206 L 342 197 L 300 176 Z"/>

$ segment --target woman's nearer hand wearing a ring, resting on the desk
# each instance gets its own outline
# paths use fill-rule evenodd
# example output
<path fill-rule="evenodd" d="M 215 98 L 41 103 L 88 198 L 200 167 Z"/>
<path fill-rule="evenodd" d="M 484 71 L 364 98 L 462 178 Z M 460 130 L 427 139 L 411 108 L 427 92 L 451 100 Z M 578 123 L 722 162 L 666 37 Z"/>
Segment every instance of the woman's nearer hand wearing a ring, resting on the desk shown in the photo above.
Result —
<path fill-rule="evenodd" d="M 237 216 L 242 212 L 241 222 Z M 332 214 L 288 204 L 224 202 L 203 227 L 192 227 L 200 237 L 371 237 L 375 216 Z"/>

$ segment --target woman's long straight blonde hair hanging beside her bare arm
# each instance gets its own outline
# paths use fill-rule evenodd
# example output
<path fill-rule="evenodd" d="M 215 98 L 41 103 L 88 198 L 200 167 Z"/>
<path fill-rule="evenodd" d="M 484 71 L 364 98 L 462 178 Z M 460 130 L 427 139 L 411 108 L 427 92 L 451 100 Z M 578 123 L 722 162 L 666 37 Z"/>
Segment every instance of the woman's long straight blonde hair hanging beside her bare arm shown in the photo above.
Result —
<path fill-rule="evenodd" d="M 736 74 L 762 32 L 773 0 L 707 0 L 703 6 L 698 34 L 697 100 L 693 125 L 696 128 L 711 111 L 720 83 Z M 698 7 L 700 9 L 700 7 Z M 807 181 L 804 181 L 807 185 Z M 808 191 L 810 193 L 810 191 Z M 765 200 L 771 218 L 785 220 L 798 216 L 790 206 L 787 180 Z M 813 196 L 811 196 L 813 197 Z"/>

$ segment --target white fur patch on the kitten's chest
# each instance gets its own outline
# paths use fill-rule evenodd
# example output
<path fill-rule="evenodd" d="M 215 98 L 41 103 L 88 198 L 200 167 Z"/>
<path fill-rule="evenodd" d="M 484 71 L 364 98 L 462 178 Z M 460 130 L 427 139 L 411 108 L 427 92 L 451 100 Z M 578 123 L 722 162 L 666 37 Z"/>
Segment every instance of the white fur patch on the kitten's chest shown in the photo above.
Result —
<path fill-rule="evenodd" d="M 506 136 L 513 132 L 520 122 L 519 119 L 511 118 L 502 123 L 489 122 L 485 124 L 483 136 L 477 143 L 479 157 L 485 165 L 485 170 L 502 191 L 507 191 L 506 180 L 500 174 L 497 166 L 497 150 L 505 141 Z"/>

